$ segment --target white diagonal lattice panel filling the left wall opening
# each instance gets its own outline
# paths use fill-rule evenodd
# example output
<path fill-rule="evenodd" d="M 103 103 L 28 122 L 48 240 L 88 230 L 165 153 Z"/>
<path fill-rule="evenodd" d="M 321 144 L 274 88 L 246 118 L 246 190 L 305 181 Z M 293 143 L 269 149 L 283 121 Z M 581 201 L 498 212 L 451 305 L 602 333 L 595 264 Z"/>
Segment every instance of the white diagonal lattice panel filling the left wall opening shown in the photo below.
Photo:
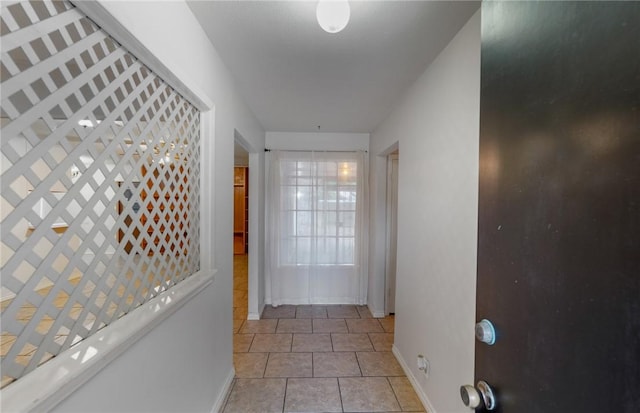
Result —
<path fill-rule="evenodd" d="M 68 2 L 2 2 L 2 385 L 199 270 L 199 112 Z"/>

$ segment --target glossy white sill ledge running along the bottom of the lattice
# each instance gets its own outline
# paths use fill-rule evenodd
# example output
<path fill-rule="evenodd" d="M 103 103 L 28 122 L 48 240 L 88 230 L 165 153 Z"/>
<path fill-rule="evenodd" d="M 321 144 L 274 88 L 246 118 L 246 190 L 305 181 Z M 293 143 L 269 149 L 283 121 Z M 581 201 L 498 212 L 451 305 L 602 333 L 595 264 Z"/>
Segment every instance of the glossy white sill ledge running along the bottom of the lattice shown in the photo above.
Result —
<path fill-rule="evenodd" d="M 207 288 L 214 273 L 193 274 L 2 389 L 2 410 L 51 410 Z"/>

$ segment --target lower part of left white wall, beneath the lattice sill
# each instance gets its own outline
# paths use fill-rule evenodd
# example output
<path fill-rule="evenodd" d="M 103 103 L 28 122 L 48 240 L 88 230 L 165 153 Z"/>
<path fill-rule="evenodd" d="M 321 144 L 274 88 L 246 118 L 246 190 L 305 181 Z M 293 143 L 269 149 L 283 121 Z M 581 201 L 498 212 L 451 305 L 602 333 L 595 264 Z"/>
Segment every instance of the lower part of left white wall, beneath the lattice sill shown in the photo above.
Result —
<path fill-rule="evenodd" d="M 210 412 L 221 383 L 232 378 L 223 325 L 213 312 L 217 280 L 107 365 L 54 412 Z M 218 377 L 220 376 L 220 377 Z"/>

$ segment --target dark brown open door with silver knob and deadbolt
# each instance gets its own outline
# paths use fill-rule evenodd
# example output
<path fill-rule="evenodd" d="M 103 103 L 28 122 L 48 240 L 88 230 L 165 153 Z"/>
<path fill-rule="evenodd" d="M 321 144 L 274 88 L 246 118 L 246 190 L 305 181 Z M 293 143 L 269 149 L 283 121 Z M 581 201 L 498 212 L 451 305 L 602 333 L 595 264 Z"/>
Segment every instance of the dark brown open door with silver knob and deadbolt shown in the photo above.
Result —
<path fill-rule="evenodd" d="M 483 2 L 476 381 L 640 412 L 640 2 Z"/>

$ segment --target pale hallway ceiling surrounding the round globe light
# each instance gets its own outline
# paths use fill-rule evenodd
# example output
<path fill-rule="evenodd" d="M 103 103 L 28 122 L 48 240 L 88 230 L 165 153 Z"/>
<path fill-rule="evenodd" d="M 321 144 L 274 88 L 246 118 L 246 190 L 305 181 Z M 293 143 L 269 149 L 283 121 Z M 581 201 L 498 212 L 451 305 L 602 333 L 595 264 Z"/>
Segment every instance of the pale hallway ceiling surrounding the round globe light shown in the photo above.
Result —
<path fill-rule="evenodd" d="M 351 2 L 338 34 L 316 2 L 188 1 L 267 131 L 371 132 L 479 2 Z"/>

